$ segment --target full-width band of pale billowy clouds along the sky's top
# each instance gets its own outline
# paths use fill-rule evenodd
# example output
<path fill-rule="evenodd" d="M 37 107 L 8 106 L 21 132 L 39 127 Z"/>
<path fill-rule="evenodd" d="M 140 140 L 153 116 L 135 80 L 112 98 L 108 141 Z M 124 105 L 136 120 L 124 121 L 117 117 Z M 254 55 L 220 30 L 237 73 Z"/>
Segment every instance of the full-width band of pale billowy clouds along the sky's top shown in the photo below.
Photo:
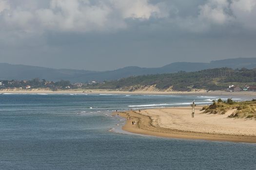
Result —
<path fill-rule="evenodd" d="M 46 5 L 48 2 L 48 5 Z M 46 0 L 37 3 L 23 0 L 14 3 L 0 0 L 1 30 L 40 31 L 113 31 L 127 29 L 126 19 L 145 21 L 150 18 L 169 20 L 181 28 L 197 25 L 198 31 L 212 25 L 240 24 L 256 29 L 255 0 L 207 0 L 197 4 L 195 12 L 183 14 L 176 1 L 149 0 Z M 24 5 L 25 4 L 25 5 Z M 180 6 L 177 6 L 180 5 Z M 187 9 L 187 8 L 186 8 Z M 192 30 L 194 31 L 194 30 Z"/>

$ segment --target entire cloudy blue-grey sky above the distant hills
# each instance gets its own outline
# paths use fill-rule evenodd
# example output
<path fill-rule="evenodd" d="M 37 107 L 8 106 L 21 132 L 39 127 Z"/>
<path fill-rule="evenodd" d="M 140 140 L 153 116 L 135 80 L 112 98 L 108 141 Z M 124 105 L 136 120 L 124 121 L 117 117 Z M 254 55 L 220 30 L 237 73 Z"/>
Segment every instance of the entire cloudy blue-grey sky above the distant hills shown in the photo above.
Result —
<path fill-rule="evenodd" d="M 256 57 L 256 0 L 0 0 L 0 63 L 113 70 Z"/>

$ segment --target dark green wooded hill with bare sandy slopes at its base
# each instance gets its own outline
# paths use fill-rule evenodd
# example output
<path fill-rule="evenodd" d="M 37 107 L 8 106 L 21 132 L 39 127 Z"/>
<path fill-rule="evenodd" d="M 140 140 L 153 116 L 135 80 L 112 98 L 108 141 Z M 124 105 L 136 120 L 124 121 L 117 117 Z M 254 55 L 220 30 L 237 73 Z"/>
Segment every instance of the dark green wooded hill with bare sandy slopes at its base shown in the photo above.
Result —
<path fill-rule="evenodd" d="M 154 87 L 156 90 L 189 91 L 193 89 L 223 90 L 228 85 L 256 85 L 256 69 L 214 68 L 196 72 L 154 74 L 123 78 L 117 81 L 88 85 L 87 88 L 139 90 Z"/>

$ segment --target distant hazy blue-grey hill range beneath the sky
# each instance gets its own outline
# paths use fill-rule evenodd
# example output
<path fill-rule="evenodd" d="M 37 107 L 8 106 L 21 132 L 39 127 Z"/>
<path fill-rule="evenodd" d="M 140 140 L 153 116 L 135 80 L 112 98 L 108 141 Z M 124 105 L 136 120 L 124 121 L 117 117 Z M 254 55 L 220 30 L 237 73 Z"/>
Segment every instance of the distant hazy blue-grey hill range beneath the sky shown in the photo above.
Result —
<path fill-rule="evenodd" d="M 89 71 L 76 69 L 54 69 L 26 65 L 0 63 L 0 80 L 28 80 L 33 78 L 49 81 L 71 82 L 109 81 L 129 76 L 199 71 L 209 68 L 256 68 L 256 58 L 236 58 L 211 61 L 210 63 L 176 62 L 160 68 L 125 67 L 111 71 Z"/>

